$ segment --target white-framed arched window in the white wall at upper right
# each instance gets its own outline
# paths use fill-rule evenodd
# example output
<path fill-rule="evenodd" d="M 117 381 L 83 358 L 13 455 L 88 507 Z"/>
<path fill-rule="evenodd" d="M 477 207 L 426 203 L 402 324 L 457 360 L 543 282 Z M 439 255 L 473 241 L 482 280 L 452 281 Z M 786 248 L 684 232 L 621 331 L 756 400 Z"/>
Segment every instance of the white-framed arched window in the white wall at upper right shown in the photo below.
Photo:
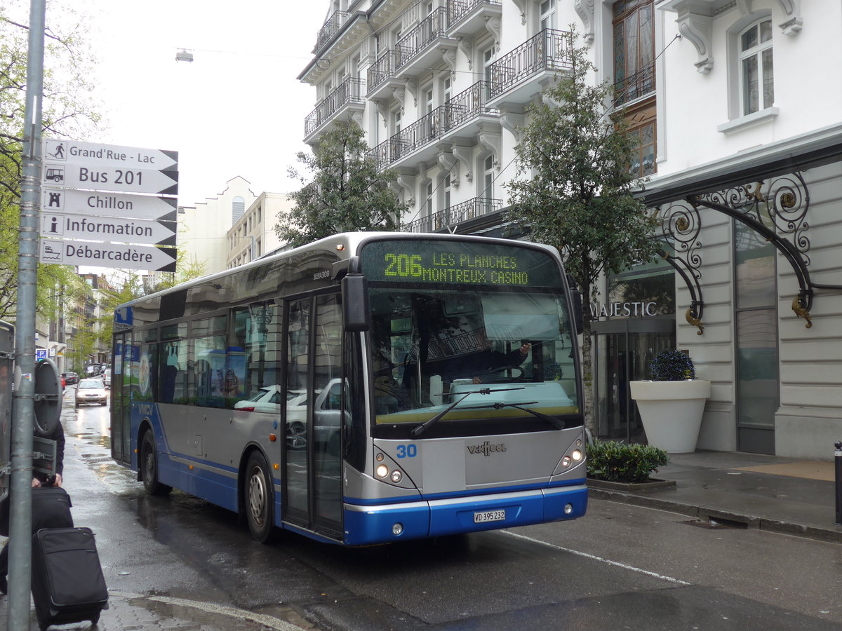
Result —
<path fill-rule="evenodd" d="M 740 101 L 743 116 L 772 107 L 772 20 L 749 26 L 739 35 Z"/>

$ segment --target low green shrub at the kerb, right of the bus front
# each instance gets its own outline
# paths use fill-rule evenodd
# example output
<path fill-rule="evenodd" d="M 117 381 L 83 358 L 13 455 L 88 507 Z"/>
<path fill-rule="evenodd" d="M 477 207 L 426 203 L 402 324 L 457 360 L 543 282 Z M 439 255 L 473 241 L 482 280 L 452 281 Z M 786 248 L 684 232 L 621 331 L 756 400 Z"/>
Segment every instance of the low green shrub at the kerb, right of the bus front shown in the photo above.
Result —
<path fill-rule="evenodd" d="M 646 482 L 669 462 L 663 449 L 616 440 L 589 443 L 587 453 L 588 477 L 610 482 Z"/>

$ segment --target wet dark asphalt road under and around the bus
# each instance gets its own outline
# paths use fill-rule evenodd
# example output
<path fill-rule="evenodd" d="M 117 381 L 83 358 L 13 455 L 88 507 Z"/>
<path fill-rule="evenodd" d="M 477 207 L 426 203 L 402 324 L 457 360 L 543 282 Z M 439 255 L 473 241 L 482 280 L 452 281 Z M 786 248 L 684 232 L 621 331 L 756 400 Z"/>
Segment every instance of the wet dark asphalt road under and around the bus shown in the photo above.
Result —
<path fill-rule="evenodd" d="M 108 408 L 72 407 L 66 488 L 109 590 L 213 602 L 321 629 L 836 629 L 842 546 L 698 528 L 605 501 L 573 523 L 340 549 L 257 544 L 231 512 L 150 497 L 109 457 Z"/>

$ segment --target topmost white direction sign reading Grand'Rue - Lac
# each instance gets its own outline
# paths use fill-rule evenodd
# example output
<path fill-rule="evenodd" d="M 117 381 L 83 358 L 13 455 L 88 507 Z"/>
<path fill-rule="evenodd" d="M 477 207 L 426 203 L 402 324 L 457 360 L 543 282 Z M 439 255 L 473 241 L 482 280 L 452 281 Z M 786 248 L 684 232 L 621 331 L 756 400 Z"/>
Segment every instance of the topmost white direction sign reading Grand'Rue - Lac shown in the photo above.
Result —
<path fill-rule="evenodd" d="M 56 138 L 45 138 L 42 146 L 41 155 L 50 162 L 78 162 L 88 166 L 145 168 L 158 171 L 175 171 L 179 166 L 178 151 L 104 145 L 99 142 L 61 141 Z"/>

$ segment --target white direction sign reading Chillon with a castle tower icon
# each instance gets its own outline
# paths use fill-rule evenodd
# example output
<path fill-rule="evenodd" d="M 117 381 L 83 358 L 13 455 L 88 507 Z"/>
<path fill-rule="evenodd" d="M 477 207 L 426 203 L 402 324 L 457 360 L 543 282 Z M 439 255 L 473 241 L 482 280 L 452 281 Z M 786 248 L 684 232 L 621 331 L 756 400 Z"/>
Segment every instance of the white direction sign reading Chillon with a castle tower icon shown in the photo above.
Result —
<path fill-rule="evenodd" d="M 100 193 L 73 188 L 44 188 L 41 209 L 50 212 L 133 217 L 135 219 L 176 221 L 178 200 L 174 197 Z"/>

